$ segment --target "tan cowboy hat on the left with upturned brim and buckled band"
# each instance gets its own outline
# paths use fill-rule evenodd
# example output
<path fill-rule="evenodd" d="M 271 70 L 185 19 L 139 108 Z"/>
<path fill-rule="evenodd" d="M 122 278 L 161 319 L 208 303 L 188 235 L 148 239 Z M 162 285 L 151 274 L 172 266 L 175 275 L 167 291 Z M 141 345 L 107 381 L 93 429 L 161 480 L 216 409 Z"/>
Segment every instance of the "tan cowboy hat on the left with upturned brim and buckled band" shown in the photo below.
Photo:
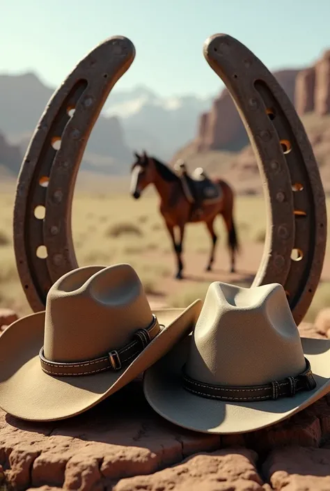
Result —
<path fill-rule="evenodd" d="M 45 311 L 1 335 L 0 407 L 33 421 L 88 410 L 187 335 L 201 306 L 151 311 L 128 264 L 68 272 L 50 288 Z"/>

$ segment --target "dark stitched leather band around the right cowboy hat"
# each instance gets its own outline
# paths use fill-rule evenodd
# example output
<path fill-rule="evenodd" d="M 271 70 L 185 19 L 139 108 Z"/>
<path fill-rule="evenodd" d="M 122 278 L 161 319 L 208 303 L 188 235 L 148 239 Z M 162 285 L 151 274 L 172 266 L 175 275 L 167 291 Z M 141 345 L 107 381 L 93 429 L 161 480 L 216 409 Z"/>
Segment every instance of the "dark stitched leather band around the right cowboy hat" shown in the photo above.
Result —
<path fill-rule="evenodd" d="M 252 386 L 230 386 L 205 384 L 194 380 L 183 373 L 182 384 L 184 389 L 195 393 L 197 396 L 228 400 L 237 402 L 253 402 L 258 400 L 276 400 L 278 397 L 294 396 L 299 391 L 311 391 L 315 389 L 316 382 L 311 371 L 311 364 L 305 358 L 306 369 L 296 377 L 286 377 L 283 380 L 274 380 L 269 384 Z M 184 368 L 183 368 L 184 372 Z"/>

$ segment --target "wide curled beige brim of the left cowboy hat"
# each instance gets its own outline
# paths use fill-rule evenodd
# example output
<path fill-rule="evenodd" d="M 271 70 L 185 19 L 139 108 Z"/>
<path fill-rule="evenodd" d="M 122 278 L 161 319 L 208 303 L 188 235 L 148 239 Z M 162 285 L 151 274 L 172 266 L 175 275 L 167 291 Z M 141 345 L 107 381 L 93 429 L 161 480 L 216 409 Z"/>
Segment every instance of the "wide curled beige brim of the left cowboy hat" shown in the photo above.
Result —
<path fill-rule="evenodd" d="M 0 336 L 0 407 L 29 421 L 56 421 L 80 414 L 118 391 L 161 358 L 193 329 L 201 300 L 187 309 L 153 313 L 161 332 L 125 369 L 93 375 L 55 377 L 43 372 L 39 351 L 45 312 L 19 319 Z"/>

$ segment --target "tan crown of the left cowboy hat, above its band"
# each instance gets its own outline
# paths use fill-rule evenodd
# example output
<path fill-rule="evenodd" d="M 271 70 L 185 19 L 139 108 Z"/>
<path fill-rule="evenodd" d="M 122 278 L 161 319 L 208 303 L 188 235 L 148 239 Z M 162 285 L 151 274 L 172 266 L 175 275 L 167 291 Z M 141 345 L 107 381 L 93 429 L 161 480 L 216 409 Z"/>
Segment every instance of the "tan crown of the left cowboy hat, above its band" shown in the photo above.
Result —
<path fill-rule="evenodd" d="M 152 312 L 132 266 L 88 266 L 61 277 L 47 295 L 44 354 L 84 361 L 123 348 Z"/>

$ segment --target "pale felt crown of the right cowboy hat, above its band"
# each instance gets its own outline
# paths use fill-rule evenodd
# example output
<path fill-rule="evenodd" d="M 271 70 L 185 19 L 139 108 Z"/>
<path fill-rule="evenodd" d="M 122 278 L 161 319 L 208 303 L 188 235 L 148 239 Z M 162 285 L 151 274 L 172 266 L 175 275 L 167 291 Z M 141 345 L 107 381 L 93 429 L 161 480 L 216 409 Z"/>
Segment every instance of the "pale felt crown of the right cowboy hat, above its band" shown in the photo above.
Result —
<path fill-rule="evenodd" d="M 187 375 L 207 384 L 267 384 L 305 369 L 299 331 L 278 283 L 211 283 L 192 337 Z"/>

